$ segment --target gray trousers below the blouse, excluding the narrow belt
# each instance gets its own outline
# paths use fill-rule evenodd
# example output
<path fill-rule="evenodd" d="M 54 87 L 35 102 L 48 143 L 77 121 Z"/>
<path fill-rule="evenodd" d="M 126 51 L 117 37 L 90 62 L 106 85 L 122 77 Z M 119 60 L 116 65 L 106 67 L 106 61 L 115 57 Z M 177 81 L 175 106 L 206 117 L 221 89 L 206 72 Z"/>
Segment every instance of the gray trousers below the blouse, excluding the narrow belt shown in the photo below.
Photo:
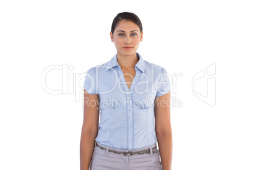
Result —
<path fill-rule="evenodd" d="M 108 150 L 115 150 L 118 152 L 137 152 L 147 148 L 152 150 L 156 143 L 148 147 L 133 150 L 112 148 L 102 145 L 101 143 L 97 143 L 97 145 L 106 148 L 106 151 L 99 147 L 94 147 L 92 160 L 90 162 L 90 170 L 162 170 L 162 162 L 160 161 L 159 150 L 157 148 L 154 149 L 157 150 L 155 153 L 150 152 L 150 154 L 131 156 L 108 152 Z"/>

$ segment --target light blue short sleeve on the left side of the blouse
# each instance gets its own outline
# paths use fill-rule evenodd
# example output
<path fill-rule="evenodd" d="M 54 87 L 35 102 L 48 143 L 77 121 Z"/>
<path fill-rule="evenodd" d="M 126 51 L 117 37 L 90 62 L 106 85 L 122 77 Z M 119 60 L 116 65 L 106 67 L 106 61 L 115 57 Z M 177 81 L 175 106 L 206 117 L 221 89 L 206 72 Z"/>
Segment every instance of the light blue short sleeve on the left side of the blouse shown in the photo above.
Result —
<path fill-rule="evenodd" d="M 98 94 L 96 87 L 96 67 L 92 67 L 87 70 L 87 74 L 85 75 L 85 82 L 83 84 L 83 88 L 90 94 L 95 95 Z"/>

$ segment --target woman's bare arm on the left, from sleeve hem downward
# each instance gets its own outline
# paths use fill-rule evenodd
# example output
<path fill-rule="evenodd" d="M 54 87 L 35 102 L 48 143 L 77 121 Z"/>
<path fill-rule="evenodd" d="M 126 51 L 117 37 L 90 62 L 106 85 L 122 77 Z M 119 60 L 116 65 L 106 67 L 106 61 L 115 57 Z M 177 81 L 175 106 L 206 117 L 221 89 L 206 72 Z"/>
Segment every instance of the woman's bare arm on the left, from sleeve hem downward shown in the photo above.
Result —
<path fill-rule="evenodd" d="M 80 141 L 80 170 L 88 170 L 99 130 L 99 95 L 84 90 L 83 126 Z"/>

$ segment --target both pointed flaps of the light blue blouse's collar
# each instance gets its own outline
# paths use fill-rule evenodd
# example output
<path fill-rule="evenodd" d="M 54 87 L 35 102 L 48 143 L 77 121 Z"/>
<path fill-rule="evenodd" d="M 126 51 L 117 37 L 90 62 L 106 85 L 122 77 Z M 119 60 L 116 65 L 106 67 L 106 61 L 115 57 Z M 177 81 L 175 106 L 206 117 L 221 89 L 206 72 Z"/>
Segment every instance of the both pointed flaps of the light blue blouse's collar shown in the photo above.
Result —
<path fill-rule="evenodd" d="M 136 67 L 141 70 L 141 72 L 144 72 L 145 71 L 145 61 L 143 60 L 142 56 L 139 55 L 139 53 L 136 53 L 137 57 L 139 58 L 139 61 L 136 63 Z M 106 67 L 106 70 L 109 70 L 117 65 L 118 62 L 117 62 L 117 54 L 115 56 L 113 56 L 111 58 L 111 60 L 109 62 L 107 62 L 107 67 Z"/>

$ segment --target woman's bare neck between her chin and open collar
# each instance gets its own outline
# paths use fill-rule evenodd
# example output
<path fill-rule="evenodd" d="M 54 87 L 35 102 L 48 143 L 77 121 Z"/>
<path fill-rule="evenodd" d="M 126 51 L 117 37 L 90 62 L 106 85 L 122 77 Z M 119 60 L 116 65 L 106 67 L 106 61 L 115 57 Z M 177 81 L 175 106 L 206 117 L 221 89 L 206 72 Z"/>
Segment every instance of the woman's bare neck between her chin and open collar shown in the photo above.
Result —
<path fill-rule="evenodd" d="M 117 62 L 120 65 L 121 69 L 134 69 L 136 63 L 138 63 L 139 58 L 137 54 L 132 55 L 122 55 L 117 53 Z"/>

